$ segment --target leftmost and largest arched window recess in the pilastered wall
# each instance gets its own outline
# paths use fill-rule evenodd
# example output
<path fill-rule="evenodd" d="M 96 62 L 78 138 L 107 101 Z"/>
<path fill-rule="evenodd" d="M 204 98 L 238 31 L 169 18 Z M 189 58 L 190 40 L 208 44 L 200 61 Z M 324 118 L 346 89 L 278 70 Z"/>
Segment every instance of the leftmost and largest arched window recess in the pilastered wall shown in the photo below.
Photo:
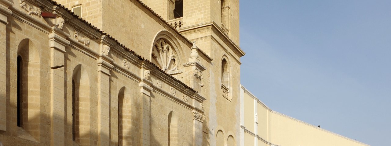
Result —
<path fill-rule="evenodd" d="M 41 111 L 31 110 L 41 105 L 41 84 L 40 84 L 40 49 L 38 49 L 30 39 L 23 39 L 18 44 L 18 56 L 16 63 L 17 92 L 16 111 L 18 127 L 24 130 L 35 139 L 40 137 Z M 38 71 L 37 71 L 38 70 Z M 37 107 L 38 106 L 38 107 Z M 29 120 L 34 119 L 34 120 Z"/>

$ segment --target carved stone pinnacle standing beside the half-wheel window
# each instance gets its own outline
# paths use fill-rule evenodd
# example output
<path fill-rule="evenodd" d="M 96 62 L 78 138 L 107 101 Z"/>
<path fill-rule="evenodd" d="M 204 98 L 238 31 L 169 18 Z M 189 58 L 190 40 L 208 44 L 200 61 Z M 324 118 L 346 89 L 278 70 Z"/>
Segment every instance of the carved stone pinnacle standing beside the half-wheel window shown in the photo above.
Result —
<path fill-rule="evenodd" d="M 201 87 L 204 86 L 203 83 L 201 83 L 201 80 L 204 78 L 202 72 L 206 68 L 200 63 L 197 52 L 198 47 L 195 46 L 195 42 L 193 42 L 191 49 L 190 58 L 183 66 L 185 67 L 185 72 L 187 72 L 187 76 L 189 76 L 190 79 L 189 86 L 200 92 Z"/>

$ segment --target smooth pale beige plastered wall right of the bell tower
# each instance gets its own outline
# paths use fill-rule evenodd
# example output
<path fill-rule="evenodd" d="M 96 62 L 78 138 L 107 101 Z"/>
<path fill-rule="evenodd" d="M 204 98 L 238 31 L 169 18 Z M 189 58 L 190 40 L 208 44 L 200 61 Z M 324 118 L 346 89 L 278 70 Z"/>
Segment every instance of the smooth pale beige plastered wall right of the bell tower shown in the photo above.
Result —
<path fill-rule="evenodd" d="M 244 86 L 241 90 L 244 105 L 241 128 L 245 139 L 242 144 L 246 146 L 368 146 L 272 111 Z"/>

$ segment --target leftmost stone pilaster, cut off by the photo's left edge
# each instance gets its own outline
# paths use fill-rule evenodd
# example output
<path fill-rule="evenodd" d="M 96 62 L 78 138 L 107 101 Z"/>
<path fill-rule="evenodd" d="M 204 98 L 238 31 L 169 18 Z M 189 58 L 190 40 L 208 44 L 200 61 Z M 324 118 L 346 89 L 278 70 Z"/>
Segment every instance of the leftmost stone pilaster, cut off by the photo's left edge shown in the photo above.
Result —
<path fill-rule="evenodd" d="M 7 130 L 7 111 L 6 111 L 6 52 L 7 52 L 7 18 L 12 14 L 8 8 L 13 5 L 7 0 L 0 0 L 0 131 Z"/>

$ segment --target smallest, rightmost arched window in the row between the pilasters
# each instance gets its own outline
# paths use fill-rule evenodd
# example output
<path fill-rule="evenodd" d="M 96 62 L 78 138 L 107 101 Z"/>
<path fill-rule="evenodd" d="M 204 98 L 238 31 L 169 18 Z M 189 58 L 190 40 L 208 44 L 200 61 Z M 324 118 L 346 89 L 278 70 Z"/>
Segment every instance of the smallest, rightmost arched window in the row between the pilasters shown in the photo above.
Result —
<path fill-rule="evenodd" d="M 167 133 L 168 146 L 178 146 L 178 118 L 173 111 L 169 113 Z"/>

